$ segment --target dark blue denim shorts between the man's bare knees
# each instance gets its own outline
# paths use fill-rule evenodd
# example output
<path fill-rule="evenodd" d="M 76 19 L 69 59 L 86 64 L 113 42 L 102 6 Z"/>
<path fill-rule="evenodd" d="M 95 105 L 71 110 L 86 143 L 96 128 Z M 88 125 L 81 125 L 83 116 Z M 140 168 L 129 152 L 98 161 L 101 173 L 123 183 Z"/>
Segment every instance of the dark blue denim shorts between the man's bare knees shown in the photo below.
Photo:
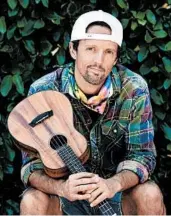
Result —
<path fill-rule="evenodd" d="M 111 199 L 108 199 L 116 215 L 122 215 L 121 208 L 122 192 L 116 193 Z M 90 207 L 89 202 L 85 200 L 69 201 L 60 197 L 61 207 L 64 215 L 101 215 L 98 207 Z"/>

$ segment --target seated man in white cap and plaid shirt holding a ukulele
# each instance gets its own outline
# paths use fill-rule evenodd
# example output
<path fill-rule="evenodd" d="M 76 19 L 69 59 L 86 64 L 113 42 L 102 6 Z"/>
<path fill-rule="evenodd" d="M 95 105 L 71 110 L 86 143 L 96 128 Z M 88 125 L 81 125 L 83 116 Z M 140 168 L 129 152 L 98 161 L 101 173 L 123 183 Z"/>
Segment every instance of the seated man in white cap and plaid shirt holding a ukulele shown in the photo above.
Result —
<path fill-rule="evenodd" d="M 98 215 L 106 199 L 117 215 L 165 214 L 160 189 L 150 181 L 156 162 L 149 91 L 142 77 L 116 64 L 122 34 L 112 15 L 83 14 L 69 45 L 75 64 L 32 84 L 29 95 L 48 89 L 68 95 L 91 155 L 87 172 L 52 179 L 40 159 L 23 152 L 21 176 L 30 187 L 21 214 Z"/>

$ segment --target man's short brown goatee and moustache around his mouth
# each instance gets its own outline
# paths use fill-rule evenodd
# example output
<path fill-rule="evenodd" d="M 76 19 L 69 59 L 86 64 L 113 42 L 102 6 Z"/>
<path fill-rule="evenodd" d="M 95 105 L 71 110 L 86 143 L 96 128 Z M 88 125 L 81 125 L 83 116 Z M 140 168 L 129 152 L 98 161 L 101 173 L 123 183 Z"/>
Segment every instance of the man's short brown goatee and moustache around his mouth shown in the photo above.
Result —
<path fill-rule="evenodd" d="M 100 85 L 105 79 L 105 70 L 97 66 L 88 66 L 86 73 L 82 75 L 86 82 L 92 85 Z"/>

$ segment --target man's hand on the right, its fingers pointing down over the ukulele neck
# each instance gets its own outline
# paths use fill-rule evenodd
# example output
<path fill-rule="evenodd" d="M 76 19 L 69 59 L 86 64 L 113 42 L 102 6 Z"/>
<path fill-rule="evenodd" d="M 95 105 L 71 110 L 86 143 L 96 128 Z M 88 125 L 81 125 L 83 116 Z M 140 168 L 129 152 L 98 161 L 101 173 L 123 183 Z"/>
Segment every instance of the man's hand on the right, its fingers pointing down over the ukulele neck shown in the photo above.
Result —
<path fill-rule="evenodd" d="M 91 197 L 88 199 L 88 201 L 91 203 L 91 207 L 98 205 L 107 198 L 112 198 L 121 188 L 118 180 L 113 178 L 103 179 L 98 175 L 96 176 L 98 179 L 98 182 L 96 183 L 96 189 L 86 192 L 87 194 L 91 193 Z"/>

